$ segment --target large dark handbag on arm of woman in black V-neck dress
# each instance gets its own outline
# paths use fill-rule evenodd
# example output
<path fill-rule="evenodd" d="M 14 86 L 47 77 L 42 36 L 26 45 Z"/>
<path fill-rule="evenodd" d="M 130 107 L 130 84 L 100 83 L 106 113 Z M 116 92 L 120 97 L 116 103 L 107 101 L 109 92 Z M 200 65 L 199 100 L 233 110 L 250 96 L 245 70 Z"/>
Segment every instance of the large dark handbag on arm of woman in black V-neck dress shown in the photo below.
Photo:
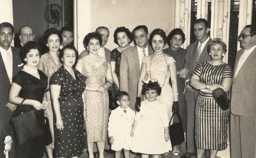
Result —
<path fill-rule="evenodd" d="M 26 99 L 23 99 L 21 104 L 25 100 Z M 39 122 L 37 121 L 37 117 L 35 116 L 35 112 L 33 109 L 27 112 L 21 112 L 21 114 L 17 115 L 17 113 L 21 109 L 21 104 L 15 110 L 14 114 L 10 119 L 14 126 L 14 132 L 20 145 L 44 133 Z"/>

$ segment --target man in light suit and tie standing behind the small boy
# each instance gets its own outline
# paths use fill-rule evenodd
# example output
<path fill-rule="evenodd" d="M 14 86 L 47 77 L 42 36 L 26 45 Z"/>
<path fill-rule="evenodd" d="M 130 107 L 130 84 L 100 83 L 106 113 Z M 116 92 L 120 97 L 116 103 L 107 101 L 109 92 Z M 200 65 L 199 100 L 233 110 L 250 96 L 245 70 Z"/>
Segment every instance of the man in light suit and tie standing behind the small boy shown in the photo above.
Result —
<path fill-rule="evenodd" d="M 142 58 L 152 55 L 154 50 L 148 45 L 149 33 L 145 25 L 139 25 L 133 30 L 133 37 L 137 45 L 122 51 L 119 72 L 120 91 L 130 96 L 130 108 L 135 110 L 137 84 L 140 77 Z"/>

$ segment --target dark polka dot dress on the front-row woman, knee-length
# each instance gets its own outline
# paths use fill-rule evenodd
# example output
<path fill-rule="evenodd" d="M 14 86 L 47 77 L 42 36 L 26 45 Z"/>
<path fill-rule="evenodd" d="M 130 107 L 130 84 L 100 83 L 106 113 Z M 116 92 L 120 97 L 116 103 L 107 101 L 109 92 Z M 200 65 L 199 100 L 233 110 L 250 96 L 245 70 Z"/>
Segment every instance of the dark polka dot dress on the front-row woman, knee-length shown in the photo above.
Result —
<path fill-rule="evenodd" d="M 59 96 L 64 130 L 56 128 L 54 118 L 54 148 L 57 157 L 73 157 L 83 152 L 84 104 L 82 93 L 86 87 L 81 73 L 74 69 L 75 79 L 61 66 L 50 80 L 50 85 L 61 85 Z"/>

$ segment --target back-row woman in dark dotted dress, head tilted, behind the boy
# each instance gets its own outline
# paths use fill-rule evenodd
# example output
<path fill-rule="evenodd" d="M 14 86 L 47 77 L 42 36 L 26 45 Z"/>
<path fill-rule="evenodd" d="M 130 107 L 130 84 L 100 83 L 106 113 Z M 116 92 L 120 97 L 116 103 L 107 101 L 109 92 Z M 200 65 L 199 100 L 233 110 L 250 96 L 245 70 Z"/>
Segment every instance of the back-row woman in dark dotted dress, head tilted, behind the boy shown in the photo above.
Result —
<path fill-rule="evenodd" d="M 119 92 L 119 64 L 121 58 L 121 52 L 130 47 L 130 43 L 133 41 L 133 34 L 126 27 L 117 27 L 114 32 L 114 43 L 119 47 L 113 49 L 110 53 L 111 58 L 111 70 L 114 80 L 113 92 L 117 94 Z"/>

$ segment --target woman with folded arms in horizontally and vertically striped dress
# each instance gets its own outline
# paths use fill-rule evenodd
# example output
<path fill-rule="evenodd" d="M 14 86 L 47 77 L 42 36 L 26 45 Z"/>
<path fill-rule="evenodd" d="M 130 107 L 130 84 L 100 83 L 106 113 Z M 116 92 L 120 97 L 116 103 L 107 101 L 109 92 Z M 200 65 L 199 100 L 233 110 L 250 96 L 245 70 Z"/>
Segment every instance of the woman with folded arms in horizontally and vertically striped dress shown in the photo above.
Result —
<path fill-rule="evenodd" d="M 191 76 L 191 86 L 200 90 L 195 106 L 197 158 L 202 158 L 205 149 L 210 150 L 210 158 L 215 158 L 218 150 L 227 148 L 230 112 L 222 110 L 212 96 L 214 89 L 228 92 L 231 87 L 233 69 L 222 62 L 226 48 L 221 39 L 213 39 L 207 46 L 212 60 L 198 64 Z"/>

